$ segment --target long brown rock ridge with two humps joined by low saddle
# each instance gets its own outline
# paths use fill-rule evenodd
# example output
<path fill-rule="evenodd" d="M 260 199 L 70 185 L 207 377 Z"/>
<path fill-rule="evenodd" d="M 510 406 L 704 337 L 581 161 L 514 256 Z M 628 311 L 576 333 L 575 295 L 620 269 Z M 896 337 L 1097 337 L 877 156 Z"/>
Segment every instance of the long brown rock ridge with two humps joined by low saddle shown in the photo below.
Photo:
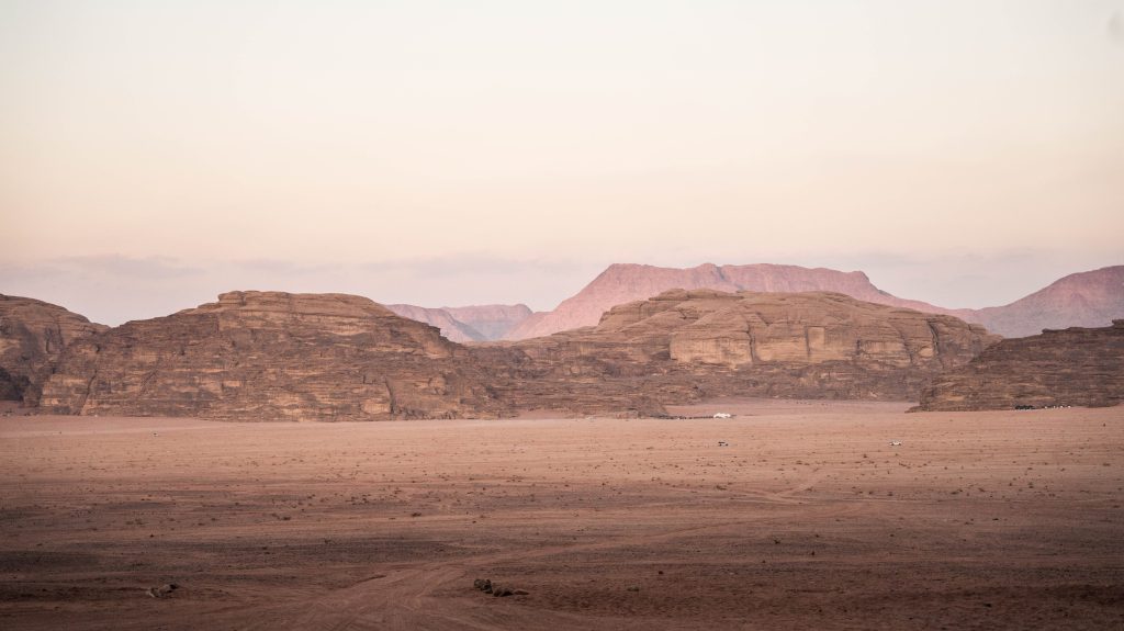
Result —
<path fill-rule="evenodd" d="M 461 346 L 370 300 L 232 292 L 71 344 L 42 409 L 236 420 L 660 414 L 720 395 L 915 399 L 995 340 L 833 293 L 665 292 L 597 327 Z"/>

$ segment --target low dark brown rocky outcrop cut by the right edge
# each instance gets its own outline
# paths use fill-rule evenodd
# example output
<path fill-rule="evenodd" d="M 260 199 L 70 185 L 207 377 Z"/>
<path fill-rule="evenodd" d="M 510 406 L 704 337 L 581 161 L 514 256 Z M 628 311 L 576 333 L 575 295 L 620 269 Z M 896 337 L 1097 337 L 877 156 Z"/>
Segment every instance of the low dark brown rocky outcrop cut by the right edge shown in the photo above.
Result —
<path fill-rule="evenodd" d="M 1124 402 L 1124 320 L 1005 339 L 924 391 L 919 411 Z"/>

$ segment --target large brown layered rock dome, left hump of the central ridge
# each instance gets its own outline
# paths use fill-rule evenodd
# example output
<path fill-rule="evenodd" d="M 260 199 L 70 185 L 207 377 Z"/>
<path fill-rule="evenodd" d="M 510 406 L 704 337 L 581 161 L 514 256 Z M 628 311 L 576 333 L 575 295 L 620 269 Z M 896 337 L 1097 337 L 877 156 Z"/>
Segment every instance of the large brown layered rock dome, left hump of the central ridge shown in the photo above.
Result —
<path fill-rule="evenodd" d="M 229 292 L 72 345 L 42 408 L 234 420 L 495 417 L 474 358 L 437 329 L 345 294 Z"/>

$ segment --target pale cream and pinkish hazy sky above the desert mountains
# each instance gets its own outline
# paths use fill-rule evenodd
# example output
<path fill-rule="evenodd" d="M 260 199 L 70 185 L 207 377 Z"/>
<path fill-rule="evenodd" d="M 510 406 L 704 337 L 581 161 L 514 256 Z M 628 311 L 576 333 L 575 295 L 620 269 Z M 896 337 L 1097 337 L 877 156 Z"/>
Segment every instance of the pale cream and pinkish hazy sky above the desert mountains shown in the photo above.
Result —
<path fill-rule="evenodd" d="M 552 309 L 611 263 L 942 307 L 1124 264 L 1124 0 L 0 0 L 0 293 Z"/>

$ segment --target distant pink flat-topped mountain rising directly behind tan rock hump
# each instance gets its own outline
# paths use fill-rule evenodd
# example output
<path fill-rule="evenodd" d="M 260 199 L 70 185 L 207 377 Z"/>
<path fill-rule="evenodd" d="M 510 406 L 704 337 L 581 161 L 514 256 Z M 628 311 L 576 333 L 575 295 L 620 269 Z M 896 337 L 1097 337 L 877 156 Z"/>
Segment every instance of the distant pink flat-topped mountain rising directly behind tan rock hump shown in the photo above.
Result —
<path fill-rule="evenodd" d="M 644 300 L 661 292 L 709 289 L 723 292 L 837 292 L 851 298 L 916 309 L 926 313 L 957 314 L 925 302 L 905 300 L 876 287 L 862 272 L 839 272 L 796 265 L 699 265 L 687 269 L 652 265 L 610 265 L 575 295 L 553 311 L 538 312 L 513 329 L 507 339 L 549 336 L 596 324 L 615 305 Z"/>

